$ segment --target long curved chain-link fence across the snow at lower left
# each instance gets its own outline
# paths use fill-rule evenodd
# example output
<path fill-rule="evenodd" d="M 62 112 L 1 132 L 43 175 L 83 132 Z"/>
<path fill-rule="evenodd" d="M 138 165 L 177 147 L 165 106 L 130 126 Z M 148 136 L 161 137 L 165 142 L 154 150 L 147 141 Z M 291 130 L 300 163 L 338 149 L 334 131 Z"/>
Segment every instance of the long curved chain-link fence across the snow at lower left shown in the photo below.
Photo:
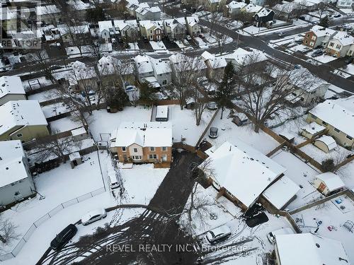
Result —
<path fill-rule="evenodd" d="M 0 255 L 0 261 L 5 261 L 6 259 L 12 259 L 13 257 L 16 257 L 17 254 L 21 251 L 21 249 L 25 245 L 25 243 L 28 242 L 33 232 L 35 232 L 35 230 L 46 220 L 52 218 L 57 213 L 59 213 L 59 211 L 62 211 L 62 209 L 72 206 L 74 204 L 79 204 L 79 202 L 85 201 L 86 199 L 90 199 L 94 196 L 97 196 L 98 194 L 102 194 L 103 192 L 105 192 L 104 187 L 101 187 L 100 189 L 95 189 L 93 192 L 89 192 L 79 197 L 76 197 L 74 199 L 71 199 L 69 201 L 65 201 L 62 204 L 59 204 L 57 207 L 50 210 L 49 212 L 45 213 L 44 216 L 35 220 L 35 222 L 30 226 L 30 228 L 28 228 L 28 230 L 25 232 L 23 237 L 21 237 L 21 240 L 17 243 L 17 245 L 12 249 L 11 252 Z"/>

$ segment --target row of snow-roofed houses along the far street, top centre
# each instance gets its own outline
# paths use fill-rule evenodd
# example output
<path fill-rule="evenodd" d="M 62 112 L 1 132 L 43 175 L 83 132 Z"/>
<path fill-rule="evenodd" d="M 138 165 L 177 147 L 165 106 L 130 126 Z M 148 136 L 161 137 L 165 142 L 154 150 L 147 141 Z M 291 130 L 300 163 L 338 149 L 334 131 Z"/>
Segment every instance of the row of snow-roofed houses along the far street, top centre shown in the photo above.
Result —
<path fill-rule="evenodd" d="M 198 16 L 188 16 L 166 20 L 105 20 L 99 21 L 98 27 L 101 38 L 106 41 L 113 37 L 137 39 L 138 35 L 146 40 L 159 41 L 164 36 L 170 40 L 181 40 L 187 33 L 196 36 L 200 34 L 198 23 Z"/>

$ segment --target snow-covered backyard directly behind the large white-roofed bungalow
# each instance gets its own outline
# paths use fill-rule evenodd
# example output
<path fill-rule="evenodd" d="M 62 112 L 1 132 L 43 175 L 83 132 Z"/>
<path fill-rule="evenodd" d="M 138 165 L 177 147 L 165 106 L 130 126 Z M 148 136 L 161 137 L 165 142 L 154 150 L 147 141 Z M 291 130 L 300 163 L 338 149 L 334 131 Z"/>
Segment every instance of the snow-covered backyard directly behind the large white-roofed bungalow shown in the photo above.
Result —
<path fill-rule="evenodd" d="M 265 134 L 265 132 L 259 131 L 258 134 L 254 132 L 251 124 L 240 127 L 236 126 L 236 124 L 232 122 L 232 119 L 227 119 L 228 114 L 229 110 L 225 110 L 224 117 L 220 119 L 220 110 L 217 117 L 215 117 L 214 122 L 212 122 L 211 126 L 219 129 L 219 136 L 217 139 L 210 139 L 207 135 L 205 136 L 207 141 L 214 146 L 221 146 L 224 141 L 233 143 L 236 139 L 241 139 L 261 153 L 267 154 L 279 145 L 277 141 L 268 136 L 268 134 Z"/>

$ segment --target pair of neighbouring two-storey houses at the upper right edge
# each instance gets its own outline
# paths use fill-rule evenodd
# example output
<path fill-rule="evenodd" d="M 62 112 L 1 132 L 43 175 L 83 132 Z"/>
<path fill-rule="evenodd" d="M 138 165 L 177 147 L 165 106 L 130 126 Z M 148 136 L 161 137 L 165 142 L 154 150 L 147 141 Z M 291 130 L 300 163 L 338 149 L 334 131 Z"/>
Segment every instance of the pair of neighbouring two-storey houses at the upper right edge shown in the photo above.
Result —
<path fill-rule="evenodd" d="M 337 31 L 319 25 L 312 27 L 304 35 L 303 45 L 315 49 L 326 49 L 327 54 L 335 57 L 353 56 L 354 37 L 346 31 Z"/>

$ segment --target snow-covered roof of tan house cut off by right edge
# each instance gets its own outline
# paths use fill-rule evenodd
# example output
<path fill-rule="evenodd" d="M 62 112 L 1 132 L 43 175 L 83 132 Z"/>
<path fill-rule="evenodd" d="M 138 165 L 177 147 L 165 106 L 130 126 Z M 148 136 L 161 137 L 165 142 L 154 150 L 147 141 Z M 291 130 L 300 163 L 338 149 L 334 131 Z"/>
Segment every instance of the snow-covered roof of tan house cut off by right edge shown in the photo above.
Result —
<path fill-rule="evenodd" d="M 309 113 L 354 137 L 354 95 L 338 100 L 326 100 L 319 103 Z"/>

